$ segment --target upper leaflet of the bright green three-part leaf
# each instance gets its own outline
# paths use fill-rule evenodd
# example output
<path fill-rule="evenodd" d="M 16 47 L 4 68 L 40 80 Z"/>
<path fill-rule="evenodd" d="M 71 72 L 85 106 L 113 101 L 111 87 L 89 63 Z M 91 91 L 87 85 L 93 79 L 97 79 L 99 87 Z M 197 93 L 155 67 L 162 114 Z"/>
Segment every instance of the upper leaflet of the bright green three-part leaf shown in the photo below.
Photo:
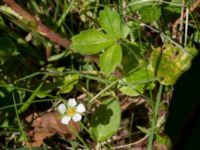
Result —
<path fill-rule="evenodd" d="M 107 34 L 115 39 L 121 38 L 123 25 L 120 15 L 116 11 L 106 7 L 100 11 L 98 22 Z"/>

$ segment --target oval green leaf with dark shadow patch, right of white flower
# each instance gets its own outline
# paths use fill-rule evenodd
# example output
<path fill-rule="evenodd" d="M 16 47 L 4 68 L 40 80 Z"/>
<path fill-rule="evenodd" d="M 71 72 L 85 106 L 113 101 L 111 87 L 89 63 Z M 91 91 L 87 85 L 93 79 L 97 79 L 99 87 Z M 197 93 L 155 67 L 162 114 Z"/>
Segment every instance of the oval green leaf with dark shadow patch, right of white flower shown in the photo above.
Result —
<path fill-rule="evenodd" d="M 119 101 L 107 99 L 99 106 L 91 120 L 91 135 L 97 141 L 105 141 L 117 132 L 121 120 Z"/>

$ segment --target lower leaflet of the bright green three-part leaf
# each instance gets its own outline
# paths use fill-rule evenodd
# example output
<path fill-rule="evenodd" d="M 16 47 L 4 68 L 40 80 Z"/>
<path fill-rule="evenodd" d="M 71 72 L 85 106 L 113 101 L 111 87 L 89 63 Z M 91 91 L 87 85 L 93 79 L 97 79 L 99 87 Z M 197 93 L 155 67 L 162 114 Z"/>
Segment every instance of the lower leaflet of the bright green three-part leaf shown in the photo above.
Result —
<path fill-rule="evenodd" d="M 122 60 L 122 50 L 119 44 L 114 44 L 100 55 L 100 68 L 106 74 L 112 73 Z"/>

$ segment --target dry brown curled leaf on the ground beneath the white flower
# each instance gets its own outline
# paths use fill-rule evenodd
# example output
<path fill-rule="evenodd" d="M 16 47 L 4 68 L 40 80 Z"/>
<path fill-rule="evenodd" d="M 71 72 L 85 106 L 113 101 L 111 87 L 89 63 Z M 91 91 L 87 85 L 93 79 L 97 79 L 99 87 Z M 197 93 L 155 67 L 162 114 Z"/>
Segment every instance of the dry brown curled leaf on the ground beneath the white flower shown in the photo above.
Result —
<path fill-rule="evenodd" d="M 42 115 L 33 113 L 27 116 L 25 120 L 33 128 L 29 131 L 31 137 L 30 145 L 33 147 L 41 146 L 45 138 L 55 134 L 64 135 L 67 139 L 74 139 L 76 137 L 75 134 L 80 131 L 79 124 L 73 121 L 69 125 L 62 124 L 58 111 L 47 112 Z"/>

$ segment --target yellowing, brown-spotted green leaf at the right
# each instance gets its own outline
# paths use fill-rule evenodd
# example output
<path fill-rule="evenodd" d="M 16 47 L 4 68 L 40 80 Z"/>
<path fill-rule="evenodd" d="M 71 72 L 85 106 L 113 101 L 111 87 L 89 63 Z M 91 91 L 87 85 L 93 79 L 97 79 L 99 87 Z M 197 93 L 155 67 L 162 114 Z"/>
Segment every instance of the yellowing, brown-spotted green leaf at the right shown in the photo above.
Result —
<path fill-rule="evenodd" d="M 190 68 L 195 48 L 187 48 L 184 52 L 171 44 L 155 48 L 150 56 L 150 65 L 157 80 L 164 85 L 175 84 L 178 77 Z"/>

